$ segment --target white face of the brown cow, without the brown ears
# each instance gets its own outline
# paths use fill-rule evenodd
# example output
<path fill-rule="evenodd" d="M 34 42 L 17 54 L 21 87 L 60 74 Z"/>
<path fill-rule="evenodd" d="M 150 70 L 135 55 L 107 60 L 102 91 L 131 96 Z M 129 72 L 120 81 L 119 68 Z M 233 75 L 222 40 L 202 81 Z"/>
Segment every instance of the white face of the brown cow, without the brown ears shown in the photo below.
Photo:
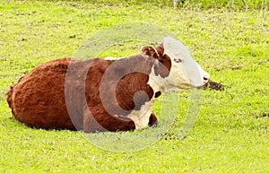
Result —
<path fill-rule="evenodd" d="M 210 75 L 195 62 L 188 48 L 180 41 L 166 38 L 163 48 L 164 55 L 170 57 L 172 64 L 169 76 L 164 79 L 165 91 L 199 88 L 208 82 Z"/>

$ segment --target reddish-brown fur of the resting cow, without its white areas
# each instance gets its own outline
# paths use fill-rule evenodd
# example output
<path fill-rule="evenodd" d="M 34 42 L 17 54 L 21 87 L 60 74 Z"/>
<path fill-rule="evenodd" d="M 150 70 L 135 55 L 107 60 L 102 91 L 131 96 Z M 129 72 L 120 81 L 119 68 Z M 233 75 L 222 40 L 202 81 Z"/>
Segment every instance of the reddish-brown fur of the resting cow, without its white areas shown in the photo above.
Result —
<path fill-rule="evenodd" d="M 170 59 L 162 54 L 160 47 L 117 61 L 56 59 L 23 76 L 6 93 L 7 101 L 18 121 L 35 128 L 132 130 L 134 121 L 126 116 L 153 98 L 147 82 L 156 59 L 163 65 L 154 66 L 155 73 L 169 73 Z M 149 125 L 156 123 L 152 114 Z"/>

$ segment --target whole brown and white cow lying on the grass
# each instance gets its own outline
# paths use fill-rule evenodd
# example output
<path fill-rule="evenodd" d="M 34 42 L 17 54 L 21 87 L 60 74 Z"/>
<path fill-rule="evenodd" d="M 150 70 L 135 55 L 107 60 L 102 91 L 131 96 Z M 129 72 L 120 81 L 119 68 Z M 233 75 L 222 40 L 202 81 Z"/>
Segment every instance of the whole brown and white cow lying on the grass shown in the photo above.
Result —
<path fill-rule="evenodd" d="M 157 124 L 161 92 L 199 88 L 209 74 L 180 41 L 124 58 L 61 58 L 39 65 L 7 92 L 13 116 L 35 128 L 126 131 Z"/>

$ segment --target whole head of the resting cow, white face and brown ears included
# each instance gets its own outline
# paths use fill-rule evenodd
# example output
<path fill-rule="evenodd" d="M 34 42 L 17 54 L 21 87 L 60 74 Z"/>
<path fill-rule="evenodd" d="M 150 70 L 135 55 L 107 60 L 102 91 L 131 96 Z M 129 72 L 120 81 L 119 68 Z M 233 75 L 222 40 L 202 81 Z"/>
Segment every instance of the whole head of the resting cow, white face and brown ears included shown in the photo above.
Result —
<path fill-rule="evenodd" d="M 162 91 L 200 88 L 209 81 L 210 75 L 195 62 L 188 48 L 176 39 L 166 38 L 159 47 L 143 47 L 142 51 L 156 59 L 154 76 L 151 77 Z"/>

